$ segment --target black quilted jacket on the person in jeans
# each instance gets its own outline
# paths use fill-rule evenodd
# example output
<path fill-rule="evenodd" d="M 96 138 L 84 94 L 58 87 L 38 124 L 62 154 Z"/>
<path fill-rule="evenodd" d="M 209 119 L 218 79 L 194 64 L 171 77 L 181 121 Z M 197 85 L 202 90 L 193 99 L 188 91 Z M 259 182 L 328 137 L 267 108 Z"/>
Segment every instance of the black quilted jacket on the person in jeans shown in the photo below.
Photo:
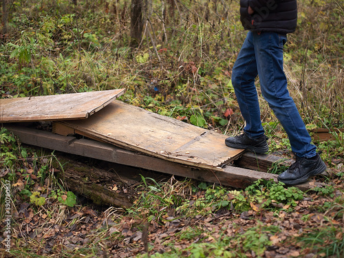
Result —
<path fill-rule="evenodd" d="M 248 14 L 248 6 L 255 12 Z M 240 0 L 245 30 L 290 33 L 297 28 L 297 0 Z"/>

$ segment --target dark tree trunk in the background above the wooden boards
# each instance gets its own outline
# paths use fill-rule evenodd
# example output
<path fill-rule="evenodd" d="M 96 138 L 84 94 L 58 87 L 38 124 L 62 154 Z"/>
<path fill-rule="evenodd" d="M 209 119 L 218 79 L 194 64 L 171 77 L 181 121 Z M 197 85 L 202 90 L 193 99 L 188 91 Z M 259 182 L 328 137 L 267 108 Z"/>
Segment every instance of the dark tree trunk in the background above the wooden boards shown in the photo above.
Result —
<path fill-rule="evenodd" d="M 130 13 L 130 46 L 137 47 L 142 39 L 143 19 L 142 19 L 142 1 L 131 0 L 131 13 Z"/>

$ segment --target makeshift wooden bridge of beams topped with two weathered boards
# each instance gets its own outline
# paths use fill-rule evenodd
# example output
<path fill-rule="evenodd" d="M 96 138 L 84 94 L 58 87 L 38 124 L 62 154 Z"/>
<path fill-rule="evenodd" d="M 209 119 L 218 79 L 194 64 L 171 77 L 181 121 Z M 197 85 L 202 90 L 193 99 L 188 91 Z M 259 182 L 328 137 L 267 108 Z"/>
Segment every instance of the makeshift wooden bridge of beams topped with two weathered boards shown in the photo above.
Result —
<path fill-rule="evenodd" d="M 241 189 L 277 181 L 266 172 L 280 158 L 228 148 L 221 133 L 115 100 L 124 92 L 1 99 L 0 122 L 25 144 L 107 162 Z M 53 121 L 52 131 L 30 127 L 34 121 Z"/>

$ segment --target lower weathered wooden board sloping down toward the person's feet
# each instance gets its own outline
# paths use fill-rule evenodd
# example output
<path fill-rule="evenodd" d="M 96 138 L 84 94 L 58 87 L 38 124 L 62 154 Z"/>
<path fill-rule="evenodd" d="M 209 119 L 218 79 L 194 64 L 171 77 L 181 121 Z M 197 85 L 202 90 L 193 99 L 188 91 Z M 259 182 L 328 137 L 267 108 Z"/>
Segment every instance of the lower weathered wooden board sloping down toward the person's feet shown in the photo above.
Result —
<path fill-rule="evenodd" d="M 243 153 L 226 147 L 227 136 L 114 100 L 87 120 L 63 125 L 125 149 L 205 169 L 224 166 Z M 58 133 L 58 132 L 57 132 Z"/>

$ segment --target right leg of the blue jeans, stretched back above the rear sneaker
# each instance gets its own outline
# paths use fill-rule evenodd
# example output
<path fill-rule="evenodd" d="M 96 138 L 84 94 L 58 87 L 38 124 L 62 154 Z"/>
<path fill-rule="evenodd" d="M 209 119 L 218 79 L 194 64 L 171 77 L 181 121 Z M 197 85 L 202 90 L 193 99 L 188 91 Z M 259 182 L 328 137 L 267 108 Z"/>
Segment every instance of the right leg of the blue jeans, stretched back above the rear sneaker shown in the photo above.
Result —
<path fill-rule="evenodd" d="M 301 158 L 316 155 L 310 134 L 287 88 L 283 72 L 283 45 L 286 36 L 276 32 L 255 33 L 253 41 L 261 93 L 286 130 L 292 151 Z"/>

